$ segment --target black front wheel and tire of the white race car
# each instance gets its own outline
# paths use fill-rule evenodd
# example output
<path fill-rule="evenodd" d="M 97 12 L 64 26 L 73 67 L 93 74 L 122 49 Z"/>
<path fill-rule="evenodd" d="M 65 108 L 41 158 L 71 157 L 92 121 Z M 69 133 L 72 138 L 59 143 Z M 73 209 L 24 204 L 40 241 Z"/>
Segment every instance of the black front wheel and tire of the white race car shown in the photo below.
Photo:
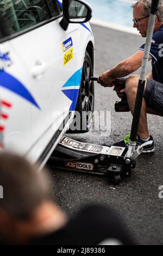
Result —
<path fill-rule="evenodd" d="M 93 76 L 93 67 L 90 55 L 86 51 L 76 112 L 68 133 L 88 132 L 92 126 L 95 91 L 94 82 L 90 80 L 91 76 Z"/>

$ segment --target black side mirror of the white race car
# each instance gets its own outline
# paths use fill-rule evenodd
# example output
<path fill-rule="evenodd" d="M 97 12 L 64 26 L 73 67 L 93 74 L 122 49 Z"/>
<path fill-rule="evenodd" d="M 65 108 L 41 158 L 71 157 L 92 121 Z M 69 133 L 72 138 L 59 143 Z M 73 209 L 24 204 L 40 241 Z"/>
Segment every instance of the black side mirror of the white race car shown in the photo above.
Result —
<path fill-rule="evenodd" d="M 69 23 L 85 23 L 92 17 L 92 9 L 82 0 L 63 0 L 62 8 L 64 17 L 60 26 L 66 31 Z"/>

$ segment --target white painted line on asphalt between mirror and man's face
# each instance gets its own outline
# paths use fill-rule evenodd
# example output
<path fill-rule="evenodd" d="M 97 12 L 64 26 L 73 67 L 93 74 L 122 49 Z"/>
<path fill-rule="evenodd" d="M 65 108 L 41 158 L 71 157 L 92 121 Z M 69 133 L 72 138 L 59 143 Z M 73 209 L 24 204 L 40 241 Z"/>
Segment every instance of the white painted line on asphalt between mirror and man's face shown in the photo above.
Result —
<path fill-rule="evenodd" d="M 92 25 L 97 25 L 97 26 L 101 26 L 101 27 L 105 27 L 105 28 L 111 28 L 111 29 L 115 29 L 117 31 L 122 31 L 122 32 L 134 34 L 134 35 L 140 35 L 139 32 L 136 31 L 134 28 L 129 28 L 129 27 L 126 27 L 126 26 L 120 26 L 120 25 L 117 25 L 117 24 L 111 23 L 111 22 L 92 19 L 90 21 L 90 23 Z"/>

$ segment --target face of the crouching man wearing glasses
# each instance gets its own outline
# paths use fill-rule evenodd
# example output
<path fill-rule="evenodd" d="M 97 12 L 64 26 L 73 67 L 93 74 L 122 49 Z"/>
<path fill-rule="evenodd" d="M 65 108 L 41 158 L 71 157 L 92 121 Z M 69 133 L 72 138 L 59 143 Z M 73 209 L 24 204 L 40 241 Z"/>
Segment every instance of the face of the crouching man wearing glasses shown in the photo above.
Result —
<path fill-rule="evenodd" d="M 142 14 L 142 5 L 141 4 L 136 5 L 136 7 L 133 9 L 134 19 L 139 20 L 145 16 L 146 15 Z M 148 20 L 149 20 L 149 17 L 145 17 L 145 19 L 137 21 L 138 26 L 136 25 L 135 22 L 133 25 L 134 28 L 137 28 L 137 31 L 139 31 L 139 33 L 143 38 L 147 36 Z"/>

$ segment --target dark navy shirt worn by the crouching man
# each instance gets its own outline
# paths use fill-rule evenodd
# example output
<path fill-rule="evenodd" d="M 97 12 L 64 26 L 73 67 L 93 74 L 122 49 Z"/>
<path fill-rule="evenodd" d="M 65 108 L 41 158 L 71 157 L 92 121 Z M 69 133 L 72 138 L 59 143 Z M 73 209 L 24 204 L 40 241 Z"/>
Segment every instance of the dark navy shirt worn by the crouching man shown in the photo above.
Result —
<path fill-rule="evenodd" d="M 139 50 L 145 50 L 145 44 Z M 163 84 L 163 25 L 153 34 L 151 41 L 153 80 Z"/>

